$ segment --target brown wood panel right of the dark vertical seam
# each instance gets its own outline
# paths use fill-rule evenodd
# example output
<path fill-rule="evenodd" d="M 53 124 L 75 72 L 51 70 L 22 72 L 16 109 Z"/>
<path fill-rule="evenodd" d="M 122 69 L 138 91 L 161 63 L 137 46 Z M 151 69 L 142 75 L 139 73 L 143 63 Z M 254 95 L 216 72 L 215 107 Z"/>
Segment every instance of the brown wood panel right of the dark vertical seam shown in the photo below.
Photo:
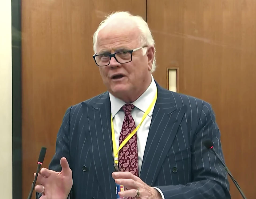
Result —
<path fill-rule="evenodd" d="M 254 198 L 256 2 L 148 0 L 156 42 L 153 74 L 166 87 L 166 68 L 179 68 L 179 92 L 212 104 L 227 166 Z M 232 181 L 231 196 L 242 198 Z"/>

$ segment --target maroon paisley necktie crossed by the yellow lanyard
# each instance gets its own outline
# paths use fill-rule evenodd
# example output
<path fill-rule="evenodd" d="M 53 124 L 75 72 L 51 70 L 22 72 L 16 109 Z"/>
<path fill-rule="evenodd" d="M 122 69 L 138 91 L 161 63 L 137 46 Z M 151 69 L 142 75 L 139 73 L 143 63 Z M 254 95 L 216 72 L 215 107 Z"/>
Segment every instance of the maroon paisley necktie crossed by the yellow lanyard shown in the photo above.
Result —
<path fill-rule="evenodd" d="M 132 118 L 131 112 L 134 109 L 133 104 L 125 104 L 122 107 L 125 116 L 124 122 L 119 137 L 119 145 L 124 139 L 136 128 L 135 121 Z M 138 151 L 137 151 L 137 135 L 136 133 L 119 151 L 119 168 L 121 171 L 129 171 L 133 175 L 139 176 L 138 167 Z M 131 198 L 131 197 L 129 197 Z"/>

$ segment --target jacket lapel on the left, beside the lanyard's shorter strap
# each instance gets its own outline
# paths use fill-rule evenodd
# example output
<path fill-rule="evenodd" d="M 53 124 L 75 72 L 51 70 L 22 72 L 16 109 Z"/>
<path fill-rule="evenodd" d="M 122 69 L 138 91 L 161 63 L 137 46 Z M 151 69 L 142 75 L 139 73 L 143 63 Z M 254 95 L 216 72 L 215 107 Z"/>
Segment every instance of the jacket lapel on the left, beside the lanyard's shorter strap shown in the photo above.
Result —
<path fill-rule="evenodd" d="M 105 92 L 95 101 L 90 101 L 91 106 L 82 103 L 87 112 L 85 120 L 89 122 L 88 138 L 91 142 L 90 152 L 99 185 L 104 192 L 104 198 L 115 198 L 115 181 L 111 177 L 114 172 L 113 145 L 111 138 L 111 105 L 109 93 Z"/>

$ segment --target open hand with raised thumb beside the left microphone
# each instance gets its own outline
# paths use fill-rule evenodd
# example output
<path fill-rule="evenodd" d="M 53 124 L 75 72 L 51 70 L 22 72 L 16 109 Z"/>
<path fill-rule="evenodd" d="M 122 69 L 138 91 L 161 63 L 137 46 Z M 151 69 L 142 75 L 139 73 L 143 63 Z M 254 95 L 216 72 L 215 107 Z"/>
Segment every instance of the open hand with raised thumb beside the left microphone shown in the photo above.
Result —
<path fill-rule="evenodd" d="M 42 168 L 37 177 L 35 190 L 42 193 L 40 199 L 66 199 L 73 185 L 72 171 L 66 158 L 61 158 L 62 171 Z M 36 173 L 34 173 L 34 177 Z"/>

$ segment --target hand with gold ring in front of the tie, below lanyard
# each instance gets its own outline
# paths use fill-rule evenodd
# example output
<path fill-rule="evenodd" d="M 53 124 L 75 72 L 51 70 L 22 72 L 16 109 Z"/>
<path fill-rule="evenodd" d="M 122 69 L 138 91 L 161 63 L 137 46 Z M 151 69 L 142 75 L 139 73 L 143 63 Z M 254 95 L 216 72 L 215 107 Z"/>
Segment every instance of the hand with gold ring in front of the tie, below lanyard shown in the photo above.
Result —
<path fill-rule="evenodd" d="M 138 199 L 162 199 L 161 194 L 155 188 L 148 186 L 139 177 L 130 172 L 113 172 L 112 177 L 116 184 L 124 185 L 125 191 L 119 192 L 120 197 L 136 197 L 139 191 Z"/>

